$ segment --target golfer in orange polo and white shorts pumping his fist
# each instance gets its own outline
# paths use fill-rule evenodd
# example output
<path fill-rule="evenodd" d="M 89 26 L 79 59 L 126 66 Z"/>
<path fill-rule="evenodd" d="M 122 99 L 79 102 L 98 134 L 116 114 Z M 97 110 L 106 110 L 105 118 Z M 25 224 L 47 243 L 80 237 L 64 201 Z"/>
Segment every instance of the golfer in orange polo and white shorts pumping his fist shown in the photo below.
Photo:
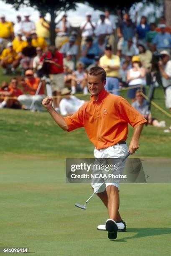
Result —
<path fill-rule="evenodd" d="M 43 99 L 43 106 L 55 122 L 64 131 L 73 131 L 84 127 L 90 141 L 95 146 L 95 158 L 123 158 L 127 152 L 133 154 L 139 148 L 139 137 L 145 118 L 135 110 L 123 97 L 113 95 L 105 90 L 106 72 L 101 67 L 92 67 L 87 72 L 88 89 L 91 98 L 71 116 L 62 117 L 52 107 L 52 98 Z M 126 145 L 128 123 L 133 126 L 133 136 L 129 148 Z M 94 191 L 99 187 L 92 184 Z M 117 231 L 125 231 L 126 226 L 119 213 L 119 192 L 117 183 L 105 183 L 97 195 L 108 210 L 109 219 L 105 228 L 108 238 L 115 239 Z M 100 225 L 104 227 L 104 225 Z M 100 229 L 100 228 L 99 228 Z"/>

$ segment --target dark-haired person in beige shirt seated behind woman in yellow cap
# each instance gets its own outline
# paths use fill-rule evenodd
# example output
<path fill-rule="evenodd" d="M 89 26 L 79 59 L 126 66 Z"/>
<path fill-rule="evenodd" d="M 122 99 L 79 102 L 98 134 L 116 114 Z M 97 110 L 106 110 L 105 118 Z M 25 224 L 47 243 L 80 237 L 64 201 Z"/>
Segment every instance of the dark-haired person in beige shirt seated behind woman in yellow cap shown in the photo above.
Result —
<path fill-rule="evenodd" d="M 142 44 L 138 44 L 140 62 L 148 70 L 151 67 L 152 52 L 147 50 Z"/>

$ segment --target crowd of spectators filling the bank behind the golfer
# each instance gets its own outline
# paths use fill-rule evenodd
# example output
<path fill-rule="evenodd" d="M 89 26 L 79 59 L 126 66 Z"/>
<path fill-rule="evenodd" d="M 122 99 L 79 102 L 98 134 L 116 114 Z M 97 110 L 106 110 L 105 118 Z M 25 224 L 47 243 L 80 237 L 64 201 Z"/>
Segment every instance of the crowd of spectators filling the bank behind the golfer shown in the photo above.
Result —
<path fill-rule="evenodd" d="M 29 13 L 18 15 L 15 24 L 0 15 L 0 65 L 4 74 L 15 74 L 17 69 L 22 75 L 11 79 L 10 85 L 3 82 L 0 108 L 41 110 L 49 78 L 56 111 L 62 105 L 61 113 L 72 113 L 71 108 L 64 110 L 64 103 L 74 105 L 75 100 L 78 106 L 84 102 L 71 95 L 88 93 L 87 70 L 94 66 L 105 69 L 107 91 L 119 95 L 121 87 L 128 87 L 127 96 L 133 103 L 140 97 L 137 90 L 145 93 L 150 83 L 151 60 L 158 51 L 166 107 L 171 110 L 171 28 L 164 17 L 159 24 L 149 24 L 145 16 L 137 23 L 137 15 L 133 21 L 128 13 L 122 15 L 118 10 L 116 23 L 106 9 L 94 23 L 93 14 L 86 13 L 79 30 L 73 30 L 64 14 L 55 27 L 55 45 L 50 44 L 50 24 L 43 15 L 36 24 Z M 60 95 L 64 98 L 61 104 Z"/>

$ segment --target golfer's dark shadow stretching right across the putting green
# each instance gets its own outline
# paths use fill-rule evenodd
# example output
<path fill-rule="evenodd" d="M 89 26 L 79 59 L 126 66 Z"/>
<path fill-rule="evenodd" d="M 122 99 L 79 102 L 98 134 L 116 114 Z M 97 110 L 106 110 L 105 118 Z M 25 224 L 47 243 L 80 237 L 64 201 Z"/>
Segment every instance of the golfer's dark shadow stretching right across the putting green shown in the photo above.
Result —
<path fill-rule="evenodd" d="M 127 236 L 127 237 L 116 239 L 113 241 L 127 242 L 127 240 L 135 239 L 135 238 L 171 234 L 171 228 L 129 228 L 127 231 L 129 233 L 137 233 L 137 234 L 135 234 L 134 236 Z"/>

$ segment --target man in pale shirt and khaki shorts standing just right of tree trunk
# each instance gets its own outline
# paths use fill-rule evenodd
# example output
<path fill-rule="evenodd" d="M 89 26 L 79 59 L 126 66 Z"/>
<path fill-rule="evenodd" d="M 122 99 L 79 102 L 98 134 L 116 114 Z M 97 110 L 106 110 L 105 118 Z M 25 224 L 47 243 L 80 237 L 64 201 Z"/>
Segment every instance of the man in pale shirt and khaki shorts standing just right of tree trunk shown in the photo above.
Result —
<path fill-rule="evenodd" d="M 59 23 L 56 24 L 55 46 L 57 49 L 59 49 L 59 47 L 63 44 L 63 42 L 68 40 L 70 23 L 66 18 L 67 18 L 67 15 L 64 14 L 62 16 L 62 19 L 59 21 Z"/>

